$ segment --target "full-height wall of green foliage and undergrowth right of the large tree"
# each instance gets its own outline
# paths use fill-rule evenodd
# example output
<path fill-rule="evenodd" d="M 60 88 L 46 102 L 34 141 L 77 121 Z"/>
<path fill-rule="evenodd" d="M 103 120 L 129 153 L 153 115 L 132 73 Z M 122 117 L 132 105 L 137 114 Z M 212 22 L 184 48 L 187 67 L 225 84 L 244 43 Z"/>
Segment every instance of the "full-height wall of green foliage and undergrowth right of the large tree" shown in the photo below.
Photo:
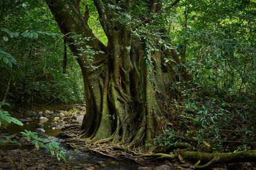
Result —
<path fill-rule="evenodd" d="M 215 152 L 255 149 L 255 4 L 183 1 L 176 8 L 169 31 L 195 86 L 163 106 L 176 128 L 155 138 L 158 144 L 187 141 Z"/>

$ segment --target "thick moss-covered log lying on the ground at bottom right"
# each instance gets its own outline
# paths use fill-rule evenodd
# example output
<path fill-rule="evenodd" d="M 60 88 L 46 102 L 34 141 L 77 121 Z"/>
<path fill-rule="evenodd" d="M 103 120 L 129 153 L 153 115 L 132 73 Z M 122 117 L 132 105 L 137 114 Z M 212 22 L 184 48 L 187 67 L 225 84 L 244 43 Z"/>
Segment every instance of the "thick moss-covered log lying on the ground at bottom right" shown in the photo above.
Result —
<path fill-rule="evenodd" d="M 212 153 L 205 152 L 192 152 L 192 151 L 180 151 L 180 155 L 184 159 L 194 160 L 201 162 L 210 162 L 213 158 L 217 158 L 215 163 L 234 163 L 234 162 L 255 162 L 256 150 L 228 152 L 228 153 Z"/>

